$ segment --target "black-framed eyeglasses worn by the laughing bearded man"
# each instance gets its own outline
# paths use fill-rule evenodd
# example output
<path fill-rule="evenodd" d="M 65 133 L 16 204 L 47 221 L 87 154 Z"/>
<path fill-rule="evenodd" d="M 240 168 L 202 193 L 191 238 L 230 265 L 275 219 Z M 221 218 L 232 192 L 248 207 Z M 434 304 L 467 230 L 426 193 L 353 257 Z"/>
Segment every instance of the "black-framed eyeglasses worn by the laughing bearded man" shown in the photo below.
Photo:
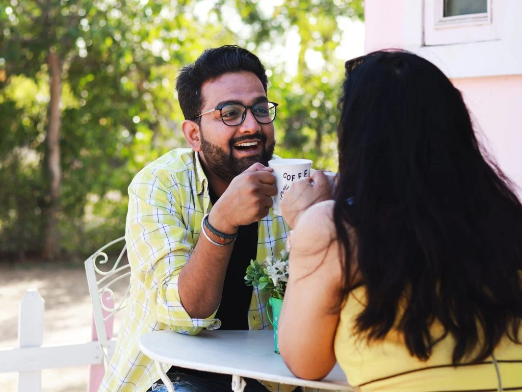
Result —
<path fill-rule="evenodd" d="M 279 103 L 270 102 L 270 101 L 262 101 L 254 103 L 252 106 L 245 106 L 241 103 L 227 103 L 224 105 L 217 106 L 217 108 L 210 109 L 205 113 L 201 113 L 200 115 L 194 117 L 196 118 L 203 116 L 204 114 L 211 113 L 215 110 L 219 110 L 219 114 L 221 115 L 221 121 L 228 126 L 234 127 L 241 125 L 246 118 L 246 110 L 252 110 L 252 114 L 254 115 L 256 121 L 259 124 L 270 124 L 276 118 L 277 113 L 277 105 Z"/>

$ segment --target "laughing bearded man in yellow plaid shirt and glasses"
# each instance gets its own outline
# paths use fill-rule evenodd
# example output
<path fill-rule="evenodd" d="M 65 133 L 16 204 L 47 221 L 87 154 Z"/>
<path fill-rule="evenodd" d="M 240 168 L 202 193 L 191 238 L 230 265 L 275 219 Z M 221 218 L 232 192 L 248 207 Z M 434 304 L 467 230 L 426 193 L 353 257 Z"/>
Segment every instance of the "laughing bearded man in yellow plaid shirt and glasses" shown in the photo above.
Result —
<path fill-rule="evenodd" d="M 277 103 L 268 100 L 267 84 L 259 59 L 238 46 L 206 50 L 177 78 L 191 149 L 150 163 L 128 188 L 131 298 L 100 391 L 164 388 L 137 345 L 146 332 L 268 328 L 267 296 L 243 279 L 251 259 L 283 250 L 289 231 L 270 210 L 276 186 L 267 164 Z M 230 376 L 181 368 L 169 376 L 176 390 L 231 389 Z M 248 380 L 245 391 L 266 388 Z"/>

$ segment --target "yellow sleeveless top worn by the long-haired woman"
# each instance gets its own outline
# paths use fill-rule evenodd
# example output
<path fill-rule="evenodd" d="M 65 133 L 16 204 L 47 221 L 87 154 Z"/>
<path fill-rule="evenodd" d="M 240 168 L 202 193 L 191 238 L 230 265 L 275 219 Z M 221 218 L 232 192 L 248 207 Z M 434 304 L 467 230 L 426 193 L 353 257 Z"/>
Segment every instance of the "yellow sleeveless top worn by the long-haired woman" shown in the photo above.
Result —
<path fill-rule="evenodd" d="M 437 343 L 428 361 L 412 357 L 404 338 L 395 329 L 384 340 L 372 341 L 353 333 L 357 316 L 364 309 L 365 288 L 353 290 L 340 315 L 335 355 L 348 382 L 362 392 L 496 391 L 499 382 L 492 359 L 475 365 L 452 366 L 455 340 L 450 334 Z M 522 329 L 522 328 L 521 328 Z M 434 323 L 432 336 L 442 336 Z M 522 336 L 522 330 L 520 335 Z M 522 345 L 504 337 L 494 351 L 503 390 L 522 392 Z"/>

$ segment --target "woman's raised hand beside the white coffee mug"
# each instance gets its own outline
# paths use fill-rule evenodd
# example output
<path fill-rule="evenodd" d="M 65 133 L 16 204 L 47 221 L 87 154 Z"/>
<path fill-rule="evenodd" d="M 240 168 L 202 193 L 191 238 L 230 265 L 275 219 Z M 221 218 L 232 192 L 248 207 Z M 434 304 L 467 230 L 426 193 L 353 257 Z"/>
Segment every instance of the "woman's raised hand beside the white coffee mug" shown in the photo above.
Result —
<path fill-rule="evenodd" d="M 327 176 L 315 171 L 310 177 L 294 181 L 281 200 L 283 219 L 291 228 L 295 227 L 301 214 L 319 201 L 331 199 L 331 188 Z"/>

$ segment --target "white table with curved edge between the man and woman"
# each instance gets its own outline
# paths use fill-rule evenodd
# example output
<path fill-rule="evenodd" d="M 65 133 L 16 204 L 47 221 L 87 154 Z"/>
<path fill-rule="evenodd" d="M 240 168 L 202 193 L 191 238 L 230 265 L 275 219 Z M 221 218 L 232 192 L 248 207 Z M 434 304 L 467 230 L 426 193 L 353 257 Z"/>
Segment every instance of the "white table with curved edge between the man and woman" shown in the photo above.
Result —
<path fill-rule="evenodd" d="M 161 363 L 199 371 L 232 375 L 232 390 L 242 392 L 242 377 L 304 387 L 348 390 L 355 388 L 346 381 L 339 365 L 322 381 L 295 377 L 274 352 L 274 331 L 207 331 L 187 336 L 174 331 L 155 331 L 138 340 L 141 351 L 156 363 L 169 392 L 174 392 Z"/>

